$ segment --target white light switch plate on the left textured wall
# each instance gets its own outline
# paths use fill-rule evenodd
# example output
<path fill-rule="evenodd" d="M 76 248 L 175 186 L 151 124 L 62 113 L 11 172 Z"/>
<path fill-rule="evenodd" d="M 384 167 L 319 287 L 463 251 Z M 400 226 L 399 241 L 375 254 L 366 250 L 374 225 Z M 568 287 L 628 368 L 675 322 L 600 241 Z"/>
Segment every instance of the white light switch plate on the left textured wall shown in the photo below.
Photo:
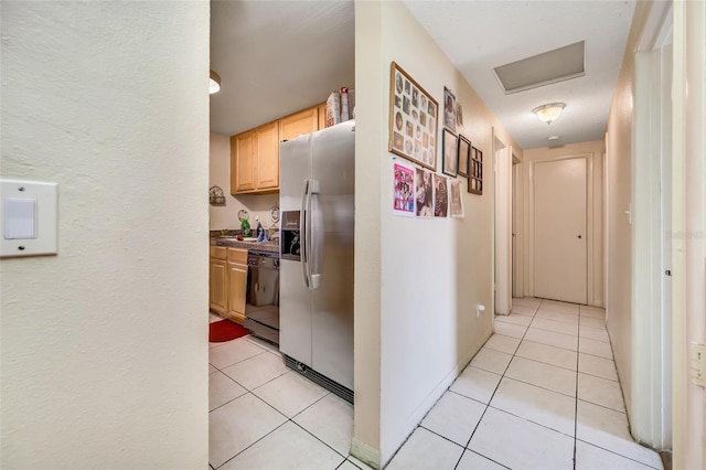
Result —
<path fill-rule="evenodd" d="M 56 255 L 58 185 L 0 180 L 0 257 Z"/>

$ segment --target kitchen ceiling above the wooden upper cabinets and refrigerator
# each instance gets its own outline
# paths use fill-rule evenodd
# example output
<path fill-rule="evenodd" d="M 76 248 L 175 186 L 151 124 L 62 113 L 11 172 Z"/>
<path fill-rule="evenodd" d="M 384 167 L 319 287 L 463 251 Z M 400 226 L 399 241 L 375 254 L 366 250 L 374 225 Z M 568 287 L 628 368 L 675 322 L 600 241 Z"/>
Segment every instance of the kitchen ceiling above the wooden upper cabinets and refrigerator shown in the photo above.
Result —
<path fill-rule="evenodd" d="M 353 1 L 211 1 L 211 131 L 233 136 L 355 84 Z"/>

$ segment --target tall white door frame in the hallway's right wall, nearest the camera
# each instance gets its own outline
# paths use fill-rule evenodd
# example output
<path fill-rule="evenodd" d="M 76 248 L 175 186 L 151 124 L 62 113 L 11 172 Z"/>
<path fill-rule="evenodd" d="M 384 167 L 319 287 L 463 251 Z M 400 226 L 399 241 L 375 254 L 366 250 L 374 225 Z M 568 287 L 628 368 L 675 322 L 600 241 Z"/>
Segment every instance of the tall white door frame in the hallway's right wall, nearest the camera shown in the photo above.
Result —
<path fill-rule="evenodd" d="M 632 356 L 635 440 L 672 448 L 672 7 L 657 2 L 634 63 Z M 668 168 L 667 168 L 668 167 Z M 671 183 L 671 181 L 670 181 Z"/>

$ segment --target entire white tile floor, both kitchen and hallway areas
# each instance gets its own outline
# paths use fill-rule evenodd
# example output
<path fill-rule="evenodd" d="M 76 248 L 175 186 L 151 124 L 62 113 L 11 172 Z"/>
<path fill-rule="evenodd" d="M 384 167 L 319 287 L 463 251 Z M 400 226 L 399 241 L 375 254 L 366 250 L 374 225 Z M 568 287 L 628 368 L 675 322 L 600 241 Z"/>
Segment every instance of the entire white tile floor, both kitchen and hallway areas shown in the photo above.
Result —
<path fill-rule="evenodd" d="M 514 299 L 494 327 L 387 469 L 663 468 L 628 431 L 603 310 Z M 349 455 L 353 407 L 271 345 L 211 344 L 210 362 L 213 469 L 368 469 Z"/>

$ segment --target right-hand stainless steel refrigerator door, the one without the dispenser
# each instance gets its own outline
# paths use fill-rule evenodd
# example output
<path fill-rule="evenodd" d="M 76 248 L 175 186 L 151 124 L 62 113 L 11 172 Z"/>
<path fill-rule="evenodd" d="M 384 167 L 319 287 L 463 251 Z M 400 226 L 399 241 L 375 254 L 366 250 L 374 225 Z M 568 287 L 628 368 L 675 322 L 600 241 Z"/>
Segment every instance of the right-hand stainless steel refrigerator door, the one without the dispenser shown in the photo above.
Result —
<path fill-rule="evenodd" d="M 312 135 L 312 367 L 353 388 L 354 124 Z"/>

